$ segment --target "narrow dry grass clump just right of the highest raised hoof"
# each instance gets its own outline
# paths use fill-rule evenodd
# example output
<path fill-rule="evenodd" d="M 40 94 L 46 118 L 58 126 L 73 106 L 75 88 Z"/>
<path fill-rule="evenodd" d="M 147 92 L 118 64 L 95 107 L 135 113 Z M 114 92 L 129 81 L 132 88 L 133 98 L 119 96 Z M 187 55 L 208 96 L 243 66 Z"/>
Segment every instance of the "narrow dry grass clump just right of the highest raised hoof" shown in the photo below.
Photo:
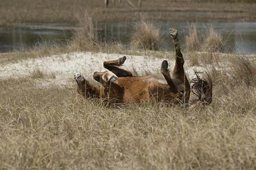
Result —
<path fill-rule="evenodd" d="M 188 36 L 185 37 L 187 50 L 189 51 L 198 51 L 200 49 L 200 42 L 198 38 L 198 33 L 196 25 L 192 23 L 189 26 Z"/>

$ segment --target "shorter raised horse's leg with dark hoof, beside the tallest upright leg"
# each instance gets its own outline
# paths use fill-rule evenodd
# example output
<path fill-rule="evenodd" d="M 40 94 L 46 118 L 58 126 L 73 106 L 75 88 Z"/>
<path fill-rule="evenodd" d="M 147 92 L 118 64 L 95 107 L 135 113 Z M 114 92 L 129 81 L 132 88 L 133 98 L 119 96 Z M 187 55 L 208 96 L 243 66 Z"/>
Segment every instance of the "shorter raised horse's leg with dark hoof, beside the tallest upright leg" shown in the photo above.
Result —
<path fill-rule="evenodd" d="M 168 69 L 168 62 L 166 60 L 164 60 L 162 62 L 161 73 L 164 75 L 164 77 L 165 77 L 165 79 L 166 79 L 166 81 L 167 81 L 171 91 L 173 93 L 178 93 L 179 91 L 178 91 L 176 85 L 174 84 L 174 82 L 171 79 L 170 71 Z"/>

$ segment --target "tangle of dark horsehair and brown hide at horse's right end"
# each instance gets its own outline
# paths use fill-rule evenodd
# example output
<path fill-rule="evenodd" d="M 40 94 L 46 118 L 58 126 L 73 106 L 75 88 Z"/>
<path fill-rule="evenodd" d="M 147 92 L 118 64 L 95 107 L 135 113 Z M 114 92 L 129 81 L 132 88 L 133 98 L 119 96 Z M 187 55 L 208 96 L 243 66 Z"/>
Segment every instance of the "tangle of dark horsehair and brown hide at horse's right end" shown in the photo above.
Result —
<path fill-rule="evenodd" d="M 212 79 L 207 72 L 195 72 L 196 78 L 191 80 L 191 91 L 196 99 L 190 101 L 190 107 L 196 105 L 209 105 L 212 102 Z M 201 74 L 201 77 L 200 77 Z"/>

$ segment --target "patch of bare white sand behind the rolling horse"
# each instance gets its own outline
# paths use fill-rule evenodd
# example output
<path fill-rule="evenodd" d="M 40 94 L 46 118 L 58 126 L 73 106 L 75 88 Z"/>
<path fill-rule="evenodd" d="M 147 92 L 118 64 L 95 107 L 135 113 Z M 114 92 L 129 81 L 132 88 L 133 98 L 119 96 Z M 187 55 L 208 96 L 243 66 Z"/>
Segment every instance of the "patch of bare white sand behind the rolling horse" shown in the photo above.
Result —
<path fill-rule="evenodd" d="M 62 55 L 54 55 L 45 58 L 28 59 L 15 64 L 0 65 L 0 79 L 22 78 L 29 77 L 31 73 L 40 69 L 41 71 L 56 75 L 56 79 L 38 79 L 41 87 L 48 87 L 54 84 L 67 85 L 73 82 L 75 73 L 80 72 L 88 79 L 92 80 L 92 75 L 95 71 L 105 71 L 103 61 L 118 59 L 123 55 L 120 54 L 105 54 L 105 53 L 69 53 Z M 134 70 L 140 75 L 143 72 L 160 72 L 160 66 L 164 59 L 152 58 L 148 56 L 130 56 L 125 55 L 127 60 L 122 68 L 131 72 Z M 174 58 L 166 59 L 169 62 L 169 68 L 174 67 Z M 187 64 L 186 64 L 187 65 Z M 202 67 L 185 67 L 190 78 L 194 77 L 194 70 L 202 71 Z"/>

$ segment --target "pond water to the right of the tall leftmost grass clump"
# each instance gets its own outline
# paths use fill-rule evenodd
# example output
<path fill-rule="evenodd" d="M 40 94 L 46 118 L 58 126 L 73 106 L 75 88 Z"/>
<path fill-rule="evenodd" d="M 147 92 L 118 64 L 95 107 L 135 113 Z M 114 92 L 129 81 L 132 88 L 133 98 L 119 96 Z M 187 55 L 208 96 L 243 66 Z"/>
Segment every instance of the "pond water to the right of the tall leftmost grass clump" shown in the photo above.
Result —
<path fill-rule="evenodd" d="M 188 23 L 154 23 L 160 28 L 160 35 L 163 39 L 163 48 L 173 50 L 173 43 L 170 40 L 168 29 L 174 27 L 178 30 L 181 44 L 185 48 L 185 36 L 188 35 Z M 237 53 L 256 53 L 256 23 L 198 23 L 197 31 L 201 35 L 213 26 L 214 29 L 223 33 L 224 47 L 226 51 Z M 133 33 L 133 25 L 127 23 L 104 25 L 100 34 L 105 40 L 118 40 L 127 45 Z"/>

